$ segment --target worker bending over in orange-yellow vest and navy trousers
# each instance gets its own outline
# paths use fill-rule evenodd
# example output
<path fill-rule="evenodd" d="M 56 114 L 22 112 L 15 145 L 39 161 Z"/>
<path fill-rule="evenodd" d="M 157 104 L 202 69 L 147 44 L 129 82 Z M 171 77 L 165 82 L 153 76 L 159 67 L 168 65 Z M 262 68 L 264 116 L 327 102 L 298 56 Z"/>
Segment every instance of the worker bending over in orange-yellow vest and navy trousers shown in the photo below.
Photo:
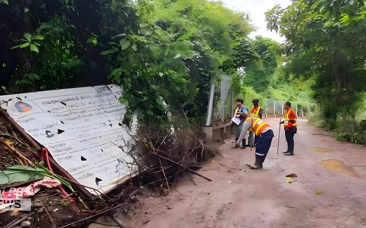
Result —
<path fill-rule="evenodd" d="M 250 169 L 262 169 L 263 162 L 266 159 L 269 148 L 271 147 L 272 138 L 275 137 L 275 135 L 273 135 L 273 130 L 270 128 L 268 123 L 259 119 L 259 117 L 251 115 L 244 121 L 242 132 L 240 133 L 235 146 L 239 145 L 240 140 L 245 137 L 249 128 L 254 132 L 255 140 L 255 163 L 249 167 Z"/>

